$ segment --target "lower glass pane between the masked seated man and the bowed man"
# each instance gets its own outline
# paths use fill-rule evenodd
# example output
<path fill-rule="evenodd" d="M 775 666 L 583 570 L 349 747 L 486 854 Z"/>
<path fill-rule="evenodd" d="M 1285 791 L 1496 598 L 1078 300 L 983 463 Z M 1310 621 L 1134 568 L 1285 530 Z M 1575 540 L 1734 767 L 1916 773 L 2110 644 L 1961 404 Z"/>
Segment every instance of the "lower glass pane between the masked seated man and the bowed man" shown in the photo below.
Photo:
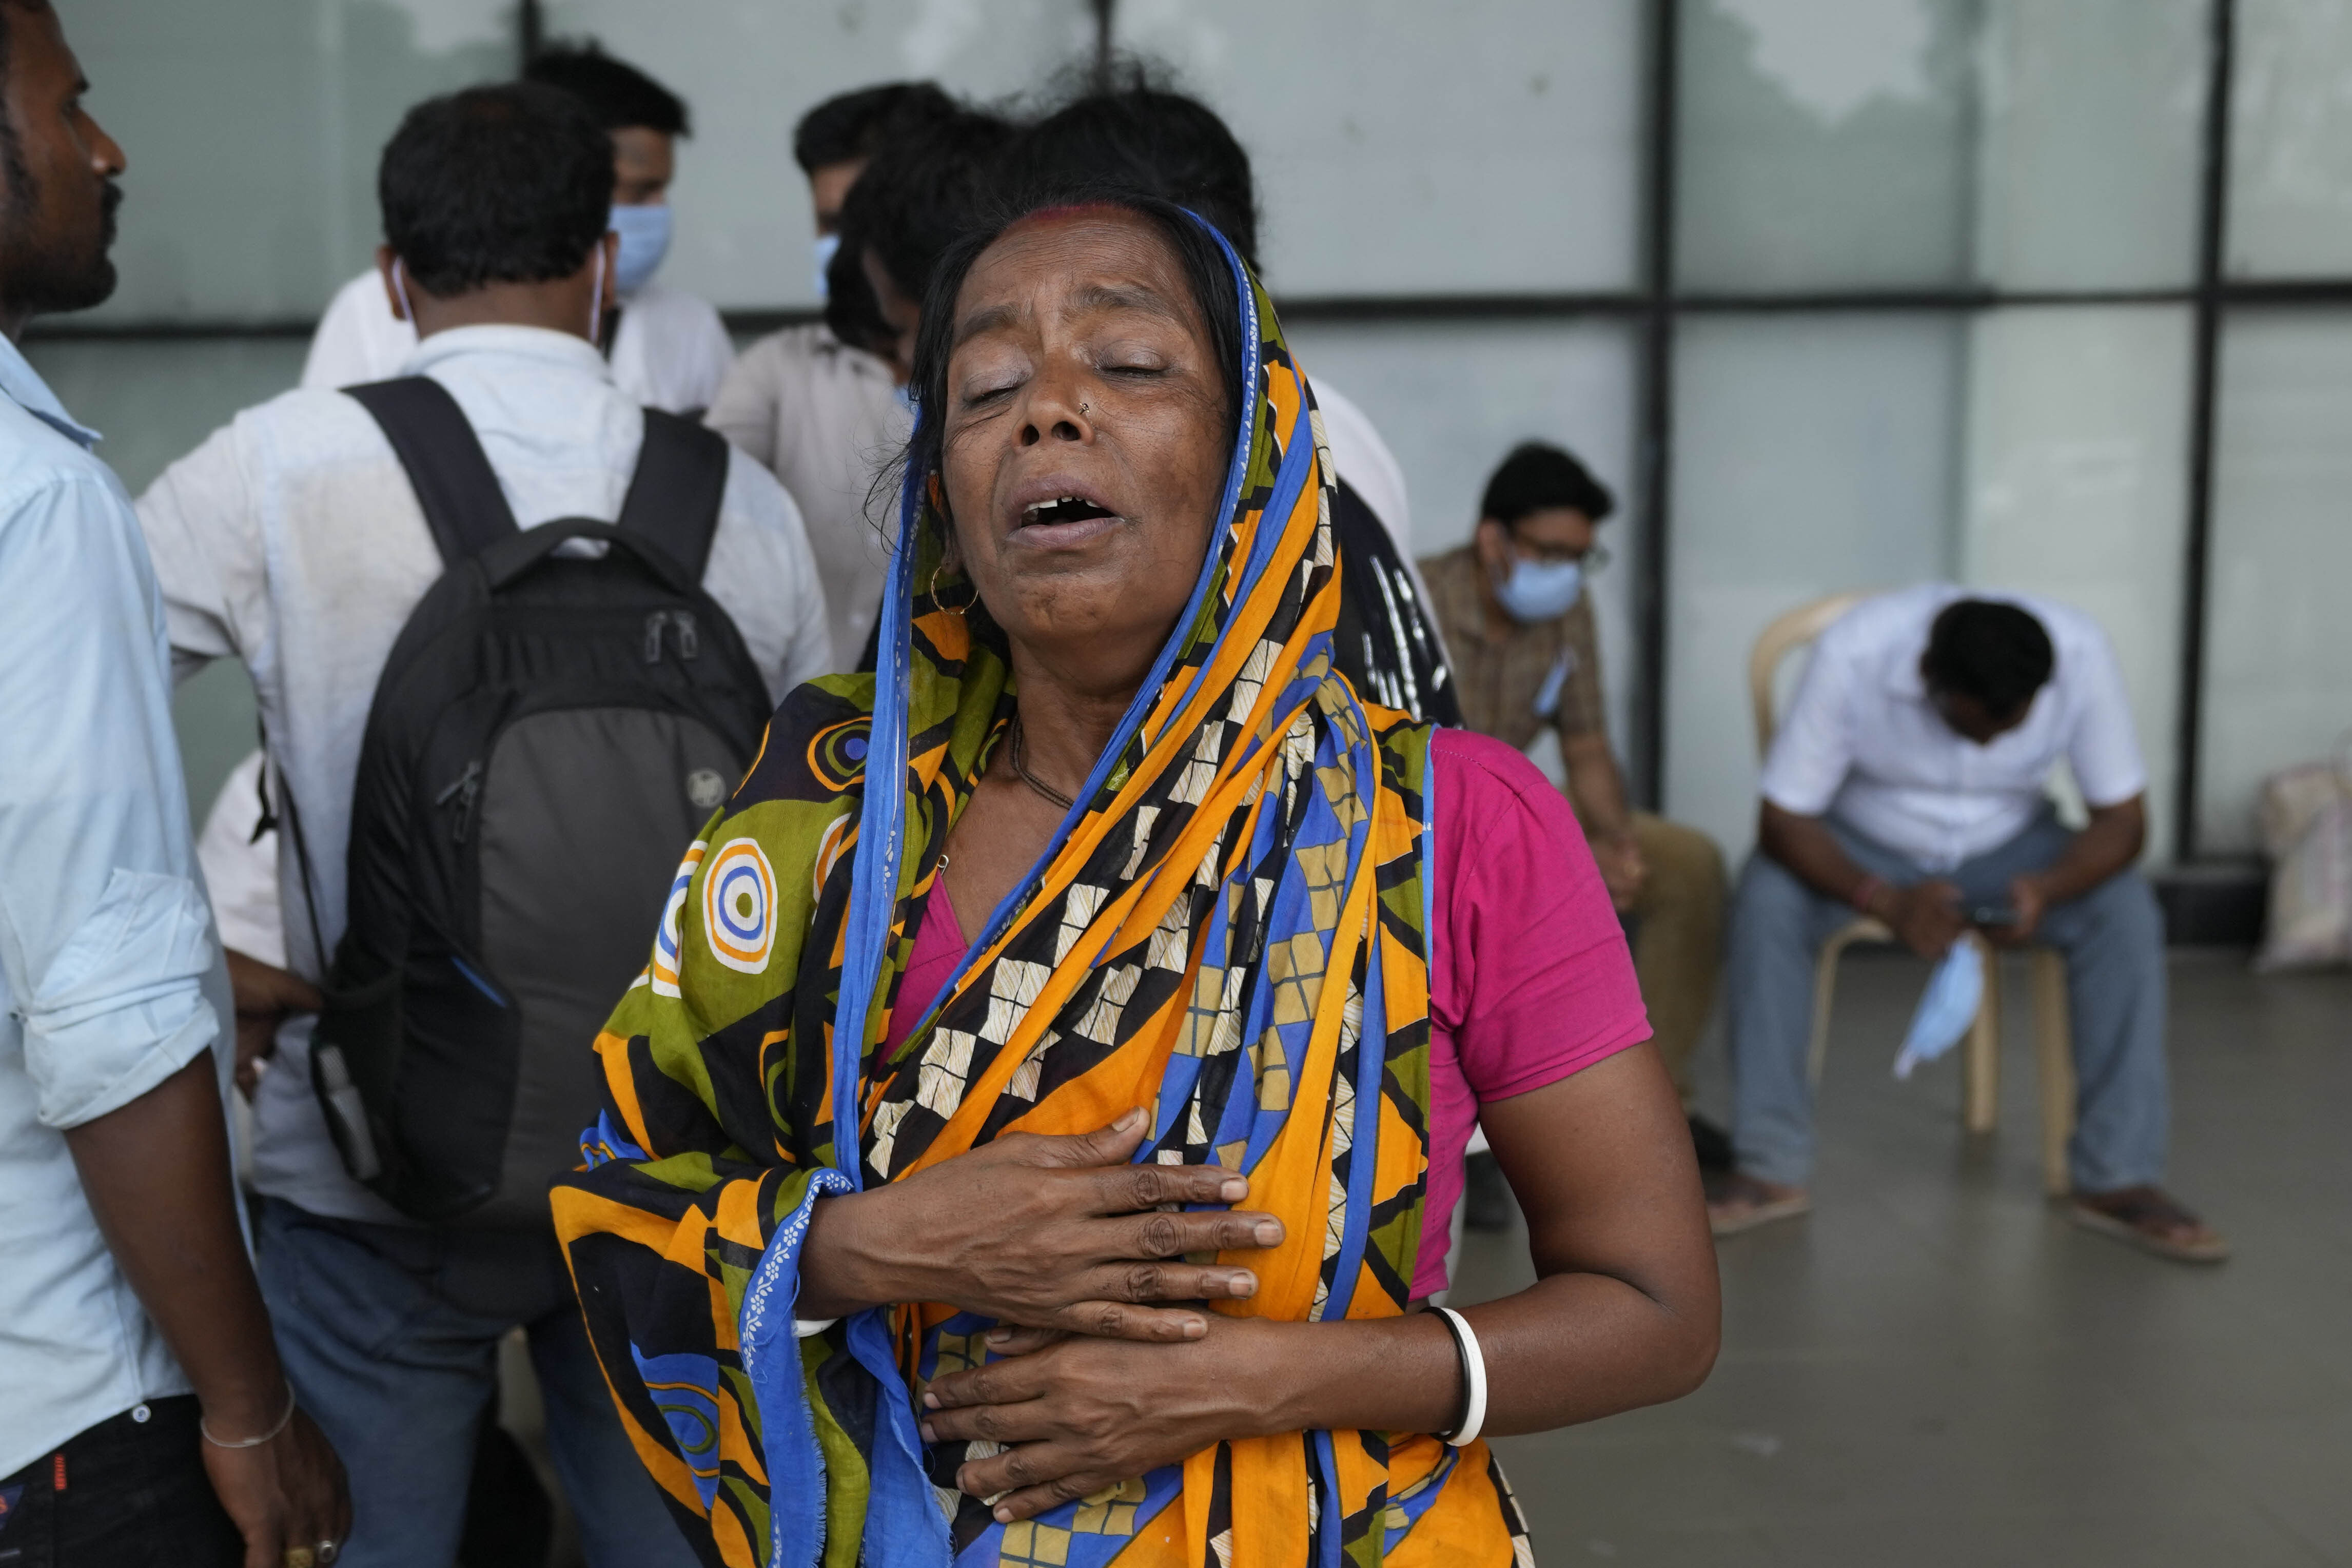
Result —
<path fill-rule="evenodd" d="M 1955 569 L 1966 324 L 1703 317 L 1675 348 L 1668 816 L 1755 839 L 1748 654 L 1776 616 Z"/>

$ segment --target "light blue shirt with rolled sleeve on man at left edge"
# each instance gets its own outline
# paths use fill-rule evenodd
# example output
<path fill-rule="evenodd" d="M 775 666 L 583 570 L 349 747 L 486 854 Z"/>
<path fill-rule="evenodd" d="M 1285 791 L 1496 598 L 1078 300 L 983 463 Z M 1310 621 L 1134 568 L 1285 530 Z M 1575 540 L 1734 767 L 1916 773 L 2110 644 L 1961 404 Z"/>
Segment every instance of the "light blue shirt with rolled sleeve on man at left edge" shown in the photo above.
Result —
<path fill-rule="evenodd" d="M 5 339 L 0 393 L 5 1476 L 143 1399 L 188 1392 L 106 1251 L 64 1128 L 212 1048 L 230 1001 L 132 501 L 89 456 L 96 435 Z"/>

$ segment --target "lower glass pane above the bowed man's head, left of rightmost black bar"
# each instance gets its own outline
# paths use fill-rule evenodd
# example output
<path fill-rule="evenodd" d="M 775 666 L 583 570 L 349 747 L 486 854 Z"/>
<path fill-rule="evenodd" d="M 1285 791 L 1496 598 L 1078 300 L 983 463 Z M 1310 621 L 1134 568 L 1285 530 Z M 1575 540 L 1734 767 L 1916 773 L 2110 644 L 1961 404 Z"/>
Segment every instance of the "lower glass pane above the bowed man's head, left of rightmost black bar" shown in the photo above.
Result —
<path fill-rule="evenodd" d="M 2187 306 L 1994 310 L 1969 329 L 1959 581 L 2091 614 L 2147 757 L 2150 858 L 2173 858 Z"/>

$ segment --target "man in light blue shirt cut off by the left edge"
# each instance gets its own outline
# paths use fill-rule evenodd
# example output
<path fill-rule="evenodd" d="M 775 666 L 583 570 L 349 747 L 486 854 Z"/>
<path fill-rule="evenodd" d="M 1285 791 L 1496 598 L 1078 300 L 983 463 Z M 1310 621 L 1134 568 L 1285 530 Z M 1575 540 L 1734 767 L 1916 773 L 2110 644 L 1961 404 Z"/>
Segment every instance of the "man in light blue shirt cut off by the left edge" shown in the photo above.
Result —
<path fill-rule="evenodd" d="M 0 66 L 0 1563 L 332 1561 L 341 1467 L 238 1229 L 162 599 L 16 350 L 113 292 L 122 150 L 38 0 Z"/>

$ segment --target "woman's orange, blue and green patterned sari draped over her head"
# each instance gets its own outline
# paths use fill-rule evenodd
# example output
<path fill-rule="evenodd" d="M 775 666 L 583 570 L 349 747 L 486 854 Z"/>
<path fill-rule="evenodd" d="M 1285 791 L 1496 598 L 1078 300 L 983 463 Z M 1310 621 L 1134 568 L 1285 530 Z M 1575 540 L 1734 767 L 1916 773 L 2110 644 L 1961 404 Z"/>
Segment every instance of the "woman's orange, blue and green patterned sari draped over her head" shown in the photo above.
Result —
<path fill-rule="evenodd" d="M 988 1319 L 910 1302 L 795 1340 L 821 1194 L 1134 1105 L 1152 1112 L 1136 1159 L 1247 1171 L 1251 1206 L 1287 1225 L 1247 1255 L 1256 1298 L 1218 1312 L 1406 1307 L 1430 1095 L 1428 729 L 1331 672 L 1329 454 L 1270 301 L 1232 270 L 1244 418 L 1225 527 L 1061 837 L 938 1006 L 884 1051 L 941 846 L 1014 691 L 1002 649 L 936 597 L 946 524 L 917 473 L 880 675 L 783 703 L 597 1039 L 609 1110 L 555 1225 L 630 1441 L 706 1561 L 1526 1561 L 1484 1443 L 1390 1432 L 1218 1443 L 1000 1526 L 955 1490 L 988 1448 L 927 1453 L 915 1429 L 924 1380 L 985 1359 Z"/>

